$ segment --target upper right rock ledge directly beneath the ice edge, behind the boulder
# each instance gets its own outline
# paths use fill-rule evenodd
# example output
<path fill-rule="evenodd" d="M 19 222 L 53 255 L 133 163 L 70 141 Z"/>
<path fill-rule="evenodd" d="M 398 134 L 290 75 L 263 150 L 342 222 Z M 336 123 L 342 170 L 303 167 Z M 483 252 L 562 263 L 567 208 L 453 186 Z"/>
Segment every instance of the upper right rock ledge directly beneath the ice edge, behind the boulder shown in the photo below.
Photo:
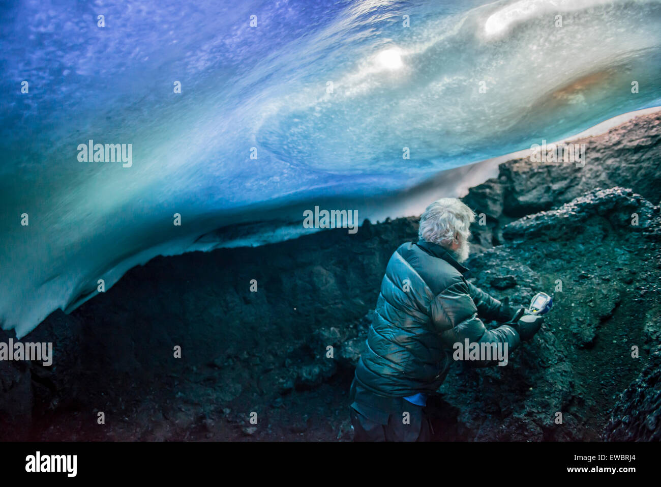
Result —
<path fill-rule="evenodd" d="M 463 200 L 486 215 L 471 231 L 488 248 L 502 242 L 502 226 L 526 214 L 550 210 L 597 188 L 633 189 L 658 204 L 661 199 L 661 112 L 638 116 L 600 136 L 571 141 L 586 144 L 583 167 L 573 162 L 512 159 L 499 166 L 498 178 L 469 190 Z"/>

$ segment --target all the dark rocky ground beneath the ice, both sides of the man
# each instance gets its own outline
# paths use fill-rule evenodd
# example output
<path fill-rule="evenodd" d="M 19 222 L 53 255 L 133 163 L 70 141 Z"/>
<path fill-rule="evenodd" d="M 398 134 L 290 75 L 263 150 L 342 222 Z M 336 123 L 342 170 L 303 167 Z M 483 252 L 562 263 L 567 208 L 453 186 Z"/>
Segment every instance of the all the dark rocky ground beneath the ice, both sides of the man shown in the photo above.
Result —
<path fill-rule="evenodd" d="M 586 140 L 585 167 L 517 159 L 471 189 L 486 224 L 469 279 L 555 304 L 507 367 L 455 366 L 436 439 L 659 439 L 660 140 L 661 115 L 642 116 Z M 0 362 L 0 439 L 348 440 L 385 264 L 416 234 L 365 222 L 136 267 L 24 337 L 54 342 L 52 367 Z"/>

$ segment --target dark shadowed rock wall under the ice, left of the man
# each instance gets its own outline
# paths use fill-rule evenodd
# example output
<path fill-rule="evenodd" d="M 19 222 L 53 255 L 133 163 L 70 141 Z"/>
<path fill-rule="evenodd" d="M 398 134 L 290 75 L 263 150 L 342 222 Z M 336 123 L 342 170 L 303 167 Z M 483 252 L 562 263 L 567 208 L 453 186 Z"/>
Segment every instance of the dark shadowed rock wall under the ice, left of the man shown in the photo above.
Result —
<path fill-rule="evenodd" d="M 54 312 L 23 339 L 53 341 L 53 367 L 0 363 L 0 420 L 22 425 L 0 439 L 208 439 L 200 417 L 212 439 L 287 439 L 301 408 L 321 425 L 307 439 L 334 439 L 385 264 L 418 231 L 415 218 L 361 229 L 157 257 Z M 245 435 L 251 411 L 271 430 Z"/>

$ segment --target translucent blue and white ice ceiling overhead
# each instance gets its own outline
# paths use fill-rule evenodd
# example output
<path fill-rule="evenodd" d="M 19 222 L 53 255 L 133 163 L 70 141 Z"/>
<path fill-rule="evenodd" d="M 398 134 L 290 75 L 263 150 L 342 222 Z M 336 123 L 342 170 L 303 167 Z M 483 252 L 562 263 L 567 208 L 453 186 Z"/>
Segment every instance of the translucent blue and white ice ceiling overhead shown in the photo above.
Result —
<path fill-rule="evenodd" d="M 368 200 L 661 97 L 652 1 L 6 1 L 0 26 L 19 336 L 260 208 Z M 132 166 L 79 161 L 89 140 Z"/>

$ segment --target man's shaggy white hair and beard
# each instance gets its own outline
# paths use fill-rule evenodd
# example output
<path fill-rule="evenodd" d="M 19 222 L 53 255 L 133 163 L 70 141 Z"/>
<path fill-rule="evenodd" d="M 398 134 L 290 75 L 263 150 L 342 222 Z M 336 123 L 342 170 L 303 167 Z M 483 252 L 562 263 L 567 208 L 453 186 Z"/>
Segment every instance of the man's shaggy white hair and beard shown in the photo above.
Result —
<path fill-rule="evenodd" d="M 461 200 L 441 198 L 427 206 L 420 216 L 418 237 L 443 247 L 449 247 L 453 240 L 468 242 L 474 221 L 475 213 Z"/>

